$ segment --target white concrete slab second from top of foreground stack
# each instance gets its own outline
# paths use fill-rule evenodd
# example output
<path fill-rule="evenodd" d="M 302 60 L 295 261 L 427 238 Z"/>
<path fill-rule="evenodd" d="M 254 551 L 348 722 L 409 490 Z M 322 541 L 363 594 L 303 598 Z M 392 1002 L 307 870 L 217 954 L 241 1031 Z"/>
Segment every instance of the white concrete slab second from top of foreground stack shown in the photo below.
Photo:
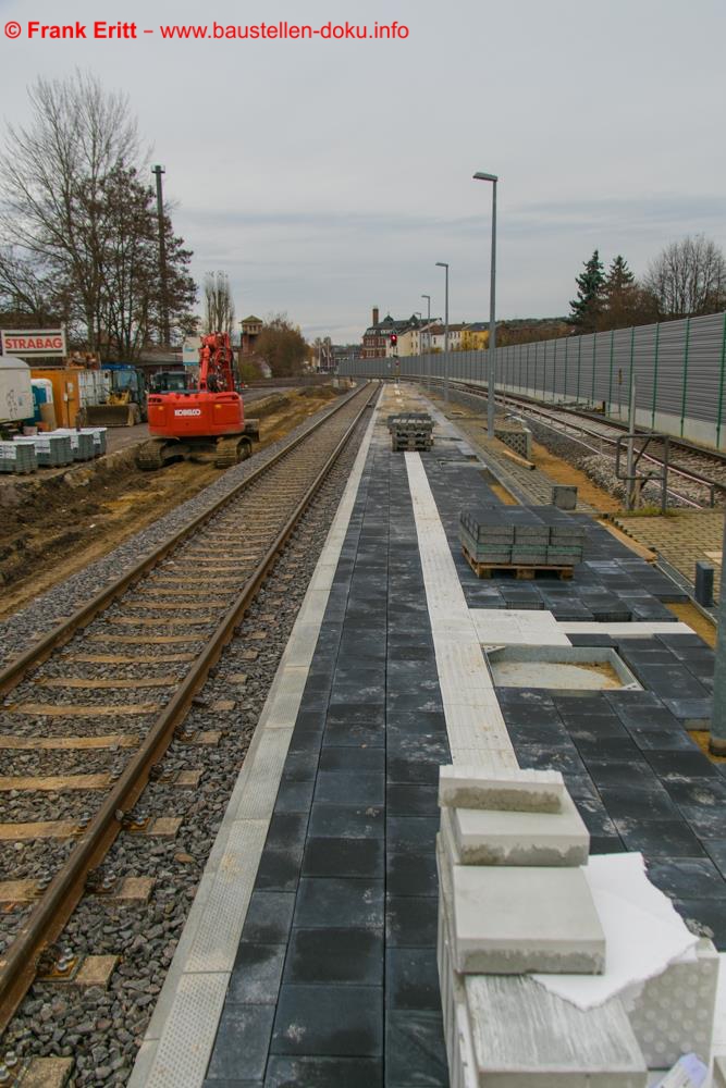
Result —
<path fill-rule="evenodd" d="M 568 794 L 558 813 L 444 808 L 462 865 L 587 865 L 590 833 Z"/>

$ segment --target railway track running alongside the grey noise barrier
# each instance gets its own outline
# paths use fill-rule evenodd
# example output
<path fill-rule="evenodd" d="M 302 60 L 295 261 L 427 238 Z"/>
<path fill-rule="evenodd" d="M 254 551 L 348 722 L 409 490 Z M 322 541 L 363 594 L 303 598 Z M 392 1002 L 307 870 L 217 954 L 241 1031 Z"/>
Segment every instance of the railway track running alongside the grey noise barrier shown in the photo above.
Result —
<path fill-rule="evenodd" d="M 467 396 L 478 398 L 484 396 L 480 386 L 467 382 L 452 382 L 451 386 Z M 627 433 L 625 424 L 599 419 L 591 412 L 578 412 L 573 408 L 545 407 L 526 397 L 512 394 L 497 395 L 496 401 L 505 410 L 509 409 L 516 411 L 517 415 L 529 416 L 542 426 L 567 437 L 592 454 L 614 458 L 618 437 Z M 648 433 L 647 431 L 638 432 L 639 436 L 647 436 Z M 673 453 L 670 453 L 668 478 L 673 484 L 668 485 L 668 495 L 678 505 L 691 509 L 726 503 L 726 459 L 717 453 L 710 454 L 707 450 L 701 450 L 690 443 L 679 442 L 676 438 L 670 441 L 670 449 L 674 448 L 678 450 L 678 460 L 674 461 Z M 653 441 L 648 446 L 648 453 L 643 454 L 642 462 L 657 466 L 660 469 L 663 465 L 663 457 L 662 443 Z"/>

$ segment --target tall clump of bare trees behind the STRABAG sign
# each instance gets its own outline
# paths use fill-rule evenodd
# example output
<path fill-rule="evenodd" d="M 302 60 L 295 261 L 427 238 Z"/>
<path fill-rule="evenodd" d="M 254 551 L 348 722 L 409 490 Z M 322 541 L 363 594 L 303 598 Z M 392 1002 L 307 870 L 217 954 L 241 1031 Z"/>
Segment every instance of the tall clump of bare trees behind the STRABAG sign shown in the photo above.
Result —
<path fill-rule="evenodd" d="M 136 121 L 93 75 L 38 79 L 32 120 L 0 157 L 0 306 L 64 321 L 91 351 L 136 358 L 159 325 L 153 190 L 141 182 Z M 171 321 L 196 288 L 190 254 L 164 218 Z M 45 316 L 45 317 L 44 317 Z"/>

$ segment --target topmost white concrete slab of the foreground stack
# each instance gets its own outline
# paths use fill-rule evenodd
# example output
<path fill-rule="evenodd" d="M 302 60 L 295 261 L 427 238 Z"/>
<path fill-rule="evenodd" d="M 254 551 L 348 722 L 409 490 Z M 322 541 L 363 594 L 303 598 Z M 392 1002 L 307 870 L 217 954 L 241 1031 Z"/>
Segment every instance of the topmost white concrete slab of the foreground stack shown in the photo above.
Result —
<path fill-rule="evenodd" d="M 567 796 L 559 771 L 485 770 L 476 764 L 439 769 L 439 804 L 452 808 L 558 813 Z"/>

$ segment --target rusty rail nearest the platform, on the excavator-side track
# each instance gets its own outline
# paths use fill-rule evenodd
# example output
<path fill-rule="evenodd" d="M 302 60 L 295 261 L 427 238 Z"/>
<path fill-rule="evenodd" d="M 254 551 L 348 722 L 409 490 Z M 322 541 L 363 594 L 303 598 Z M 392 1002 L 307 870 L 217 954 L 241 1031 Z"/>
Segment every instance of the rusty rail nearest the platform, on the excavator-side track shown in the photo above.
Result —
<path fill-rule="evenodd" d="M 244 617 L 259 586 L 274 566 L 297 522 L 324 483 L 330 470 L 350 440 L 360 418 L 370 407 L 377 392 L 378 390 L 373 390 L 369 393 L 366 404 L 356 413 L 335 449 L 268 549 L 256 572 L 245 583 L 210 635 L 204 652 L 180 683 L 174 696 L 157 716 L 140 747 L 106 796 L 96 816 L 78 838 L 76 846 L 51 880 L 42 899 L 19 929 L 9 950 L 0 957 L 0 1031 L 4 1030 L 33 984 L 38 957 L 61 934 L 83 895 L 88 874 L 99 865 L 121 831 L 123 819 L 126 813 L 131 812 L 146 787 L 152 766 L 159 762 L 169 747 L 174 730 L 184 720 L 196 692 L 205 683 L 209 670 L 219 660 L 235 627 Z"/>

